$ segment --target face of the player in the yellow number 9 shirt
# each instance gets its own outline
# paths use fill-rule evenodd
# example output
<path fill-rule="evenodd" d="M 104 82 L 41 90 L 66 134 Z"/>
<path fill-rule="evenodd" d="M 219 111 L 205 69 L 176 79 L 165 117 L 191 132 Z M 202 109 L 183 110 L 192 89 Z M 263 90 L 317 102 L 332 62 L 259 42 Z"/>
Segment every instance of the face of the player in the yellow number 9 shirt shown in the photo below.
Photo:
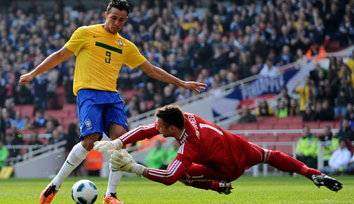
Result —
<path fill-rule="evenodd" d="M 105 30 L 111 34 L 119 32 L 125 21 L 127 21 L 127 11 L 111 8 L 110 13 L 105 12 Z"/>

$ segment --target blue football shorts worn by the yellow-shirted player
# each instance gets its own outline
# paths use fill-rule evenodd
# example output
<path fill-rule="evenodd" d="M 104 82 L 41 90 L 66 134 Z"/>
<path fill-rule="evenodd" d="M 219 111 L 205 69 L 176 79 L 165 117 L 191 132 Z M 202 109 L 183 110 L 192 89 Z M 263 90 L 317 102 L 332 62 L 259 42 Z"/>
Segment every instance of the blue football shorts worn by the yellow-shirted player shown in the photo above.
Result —
<path fill-rule="evenodd" d="M 110 123 L 115 123 L 129 130 L 127 115 L 124 112 L 122 98 L 117 92 L 81 89 L 76 97 L 82 140 L 86 135 L 103 133 L 108 135 Z"/>

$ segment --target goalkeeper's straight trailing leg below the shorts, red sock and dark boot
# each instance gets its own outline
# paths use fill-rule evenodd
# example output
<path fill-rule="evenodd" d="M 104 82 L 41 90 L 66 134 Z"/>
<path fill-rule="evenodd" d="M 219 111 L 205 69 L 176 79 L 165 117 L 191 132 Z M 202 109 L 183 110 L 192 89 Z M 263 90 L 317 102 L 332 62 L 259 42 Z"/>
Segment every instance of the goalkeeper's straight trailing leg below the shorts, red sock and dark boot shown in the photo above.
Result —
<path fill-rule="evenodd" d="M 264 149 L 263 163 L 269 163 L 269 165 L 282 170 L 283 172 L 295 172 L 302 174 L 304 177 L 311 179 L 318 187 L 324 185 L 333 191 L 342 189 L 342 183 L 333 179 L 325 174 L 322 174 L 319 170 L 309 168 L 298 159 L 285 155 L 280 151 L 273 151 Z"/>

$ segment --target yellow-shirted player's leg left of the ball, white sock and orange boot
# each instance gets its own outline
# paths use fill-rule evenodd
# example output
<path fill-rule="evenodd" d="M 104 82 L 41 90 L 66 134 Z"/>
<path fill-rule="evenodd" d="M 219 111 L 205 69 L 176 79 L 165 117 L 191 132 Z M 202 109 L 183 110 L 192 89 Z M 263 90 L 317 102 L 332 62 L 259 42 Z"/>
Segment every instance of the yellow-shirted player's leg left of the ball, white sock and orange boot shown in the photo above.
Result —
<path fill-rule="evenodd" d="M 97 141 L 99 133 L 92 133 L 83 137 L 83 141 L 76 144 L 70 151 L 67 159 L 61 166 L 61 170 L 54 177 L 52 182 L 43 190 L 39 197 L 39 203 L 50 203 L 54 198 L 56 192 L 58 192 L 64 179 L 80 165 L 83 159 L 86 158 L 90 150 L 94 147 L 94 141 Z"/>

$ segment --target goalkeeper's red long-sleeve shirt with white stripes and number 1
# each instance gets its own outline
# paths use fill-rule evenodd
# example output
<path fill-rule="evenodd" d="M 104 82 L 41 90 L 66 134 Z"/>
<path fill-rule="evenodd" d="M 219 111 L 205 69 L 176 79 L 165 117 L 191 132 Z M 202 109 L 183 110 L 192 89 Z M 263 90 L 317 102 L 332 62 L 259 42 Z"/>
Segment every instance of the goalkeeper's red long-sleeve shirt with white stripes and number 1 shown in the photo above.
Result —
<path fill-rule="evenodd" d="M 186 113 L 185 130 L 180 136 L 180 148 L 167 170 L 149 168 L 147 178 L 170 185 L 187 173 L 192 163 L 206 166 L 206 174 L 201 175 L 215 181 L 233 181 L 246 168 L 262 161 L 262 149 L 238 135 L 222 130 L 198 115 Z M 138 126 L 119 137 L 123 144 L 131 144 L 145 138 L 159 135 L 156 122 Z M 202 178 L 200 178 L 202 179 Z"/>

